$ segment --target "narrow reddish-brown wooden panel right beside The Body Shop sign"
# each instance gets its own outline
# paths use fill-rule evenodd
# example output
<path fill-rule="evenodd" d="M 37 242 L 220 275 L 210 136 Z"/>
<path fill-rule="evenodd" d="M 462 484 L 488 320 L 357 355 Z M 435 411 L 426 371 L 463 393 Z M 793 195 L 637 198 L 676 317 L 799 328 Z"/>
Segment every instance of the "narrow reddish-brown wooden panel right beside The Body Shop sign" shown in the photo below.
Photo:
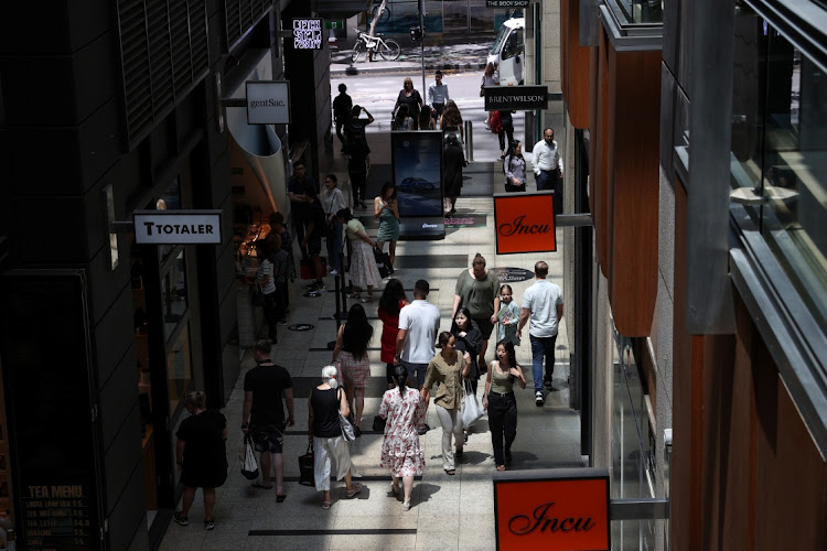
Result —
<path fill-rule="evenodd" d="M 574 128 L 589 127 L 589 56 L 592 50 L 580 45 L 580 6 L 576 0 L 569 3 L 567 18 L 562 20 L 566 29 L 563 36 L 563 73 L 567 76 L 563 99 L 569 110 L 569 119 Z M 568 45 L 566 45 L 568 44 Z"/>

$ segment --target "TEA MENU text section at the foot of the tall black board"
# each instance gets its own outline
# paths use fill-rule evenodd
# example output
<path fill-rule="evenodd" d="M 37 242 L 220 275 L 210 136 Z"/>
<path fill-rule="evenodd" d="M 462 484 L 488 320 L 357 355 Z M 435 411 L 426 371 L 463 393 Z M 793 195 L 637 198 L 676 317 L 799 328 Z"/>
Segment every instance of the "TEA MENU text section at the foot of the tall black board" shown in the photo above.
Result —
<path fill-rule="evenodd" d="M 25 548 L 46 551 L 95 549 L 84 485 L 28 486 L 23 490 Z"/>

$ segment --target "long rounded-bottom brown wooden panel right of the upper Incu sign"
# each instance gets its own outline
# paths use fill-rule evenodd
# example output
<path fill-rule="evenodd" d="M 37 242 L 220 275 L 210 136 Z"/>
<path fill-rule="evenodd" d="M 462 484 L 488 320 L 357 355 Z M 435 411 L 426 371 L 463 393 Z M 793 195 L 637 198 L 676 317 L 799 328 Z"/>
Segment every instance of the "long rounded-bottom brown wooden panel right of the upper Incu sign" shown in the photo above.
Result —
<path fill-rule="evenodd" d="M 609 48 L 609 299 L 617 331 L 646 336 L 657 299 L 660 52 Z"/>

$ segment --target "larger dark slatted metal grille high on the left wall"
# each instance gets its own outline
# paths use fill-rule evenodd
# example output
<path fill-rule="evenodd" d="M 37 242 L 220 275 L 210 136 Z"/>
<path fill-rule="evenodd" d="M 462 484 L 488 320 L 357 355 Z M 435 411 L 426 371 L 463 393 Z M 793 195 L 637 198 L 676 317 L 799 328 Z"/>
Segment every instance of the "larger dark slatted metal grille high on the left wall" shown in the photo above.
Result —
<path fill-rule="evenodd" d="M 206 0 L 118 0 L 129 148 L 210 68 Z"/>

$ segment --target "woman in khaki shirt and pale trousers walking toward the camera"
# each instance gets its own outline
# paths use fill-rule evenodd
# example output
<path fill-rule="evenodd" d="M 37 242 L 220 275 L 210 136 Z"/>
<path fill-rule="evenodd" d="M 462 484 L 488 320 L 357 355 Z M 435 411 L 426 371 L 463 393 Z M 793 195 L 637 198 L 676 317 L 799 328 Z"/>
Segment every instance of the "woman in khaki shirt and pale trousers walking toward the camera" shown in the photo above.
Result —
<path fill-rule="evenodd" d="M 410 306 L 409 306 L 410 307 Z M 425 376 L 422 401 L 428 411 L 431 388 L 439 382 L 433 406 L 437 418 L 442 425 L 442 469 L 448 475 L 457 474 L 457 460 L 462 457 L 464 440 L 462 437 L 462 379 L 468 377 L 471 366 L 465 364 L 462 354 L 457 352 L 457 339 L 449 332 L 439 334 L 439 354 L 428 364 Z M 457 453 L 451 449 L 451 440 L 455 442 Z"/>

